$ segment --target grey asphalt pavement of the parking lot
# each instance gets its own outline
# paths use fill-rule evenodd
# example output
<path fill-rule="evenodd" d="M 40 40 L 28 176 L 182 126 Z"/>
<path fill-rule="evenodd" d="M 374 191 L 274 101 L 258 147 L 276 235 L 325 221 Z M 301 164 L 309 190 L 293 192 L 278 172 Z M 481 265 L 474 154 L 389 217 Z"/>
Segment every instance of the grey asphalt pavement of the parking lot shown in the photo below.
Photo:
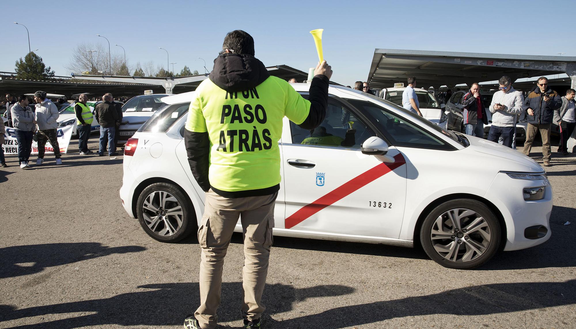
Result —
<path fill-rule="evenodd" d="M 121 205 L 122 156 L 70 151 L 30 170 L 7 155 L 0 170 L 0 327 L 182 328 L 199 301 L 196 238 L 149 238 Z M 452 270 L 419 248 L 275 237 L 264 327 L 576 328 L 576 156 L 552 156 L 548 242 Z M 242 327 L 243 261 L 235 234 L 224 328 Z"/>

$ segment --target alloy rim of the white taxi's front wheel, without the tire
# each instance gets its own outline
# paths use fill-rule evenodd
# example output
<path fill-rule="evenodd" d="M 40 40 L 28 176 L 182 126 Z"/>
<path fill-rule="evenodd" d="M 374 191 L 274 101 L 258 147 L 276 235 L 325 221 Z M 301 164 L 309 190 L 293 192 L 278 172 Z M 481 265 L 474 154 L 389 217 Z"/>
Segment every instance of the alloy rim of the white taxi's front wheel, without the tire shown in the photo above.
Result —
<path fill-rule="evenodd" d="M 471 209 L 450 209 L 438 216 L 430 238 L 434 250 L 451 262 L 471 262 L 481 257 L 492 240 L 490 225 Z"/>

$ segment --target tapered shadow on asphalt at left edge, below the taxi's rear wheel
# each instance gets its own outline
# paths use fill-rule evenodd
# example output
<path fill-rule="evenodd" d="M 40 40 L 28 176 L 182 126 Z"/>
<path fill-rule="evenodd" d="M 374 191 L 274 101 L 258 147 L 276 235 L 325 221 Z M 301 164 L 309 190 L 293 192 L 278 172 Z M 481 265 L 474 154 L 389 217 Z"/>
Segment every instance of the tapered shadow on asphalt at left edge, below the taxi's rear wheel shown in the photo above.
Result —
<path fill-rule="evenodd" d="M 2 259 L 0 278 L 26 276 L 39 273 L 47 267 L 144 250 L 146 248 L 141 246 L 107 247 L 97 242 L 48 243 L 0 248 Z"/>

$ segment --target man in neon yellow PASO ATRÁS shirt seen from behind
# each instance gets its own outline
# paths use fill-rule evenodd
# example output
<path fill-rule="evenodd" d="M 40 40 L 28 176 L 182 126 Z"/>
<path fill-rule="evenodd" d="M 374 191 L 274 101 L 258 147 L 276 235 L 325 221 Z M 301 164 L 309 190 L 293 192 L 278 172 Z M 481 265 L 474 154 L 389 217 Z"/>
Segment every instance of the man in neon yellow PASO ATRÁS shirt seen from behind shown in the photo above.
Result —
<path fill-rule="evenodd" d="M 270 76 L 254 57 L 248 33 L 226 35 L 214 70 L 196 89 L 184 132 L 190 169 L 206 192 L 198 230 L 200 307 L 184 320 L 185 328 L 216 326 L 222 265 L 238 217 L 244 233 L 244 327 L 262 328 L 261 299 L 281 181 L 282 119 L 304 129 L 322 123 L 331 75 L 328 64 L 319 63 L 305 100 L 289 83 Z"/>

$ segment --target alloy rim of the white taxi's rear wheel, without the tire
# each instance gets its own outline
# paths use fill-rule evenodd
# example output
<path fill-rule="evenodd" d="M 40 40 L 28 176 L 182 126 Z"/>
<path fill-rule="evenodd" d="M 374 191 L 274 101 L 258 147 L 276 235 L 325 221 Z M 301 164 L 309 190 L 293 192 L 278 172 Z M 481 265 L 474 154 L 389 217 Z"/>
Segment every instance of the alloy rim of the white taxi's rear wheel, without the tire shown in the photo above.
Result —
<path fill-rule="evenodd" d="M 158 236 L 175 235 L 184 220 L 180 202 L 165 191 L 154 191 L 144 199 L 142 219 L 146 226 Z"/>

